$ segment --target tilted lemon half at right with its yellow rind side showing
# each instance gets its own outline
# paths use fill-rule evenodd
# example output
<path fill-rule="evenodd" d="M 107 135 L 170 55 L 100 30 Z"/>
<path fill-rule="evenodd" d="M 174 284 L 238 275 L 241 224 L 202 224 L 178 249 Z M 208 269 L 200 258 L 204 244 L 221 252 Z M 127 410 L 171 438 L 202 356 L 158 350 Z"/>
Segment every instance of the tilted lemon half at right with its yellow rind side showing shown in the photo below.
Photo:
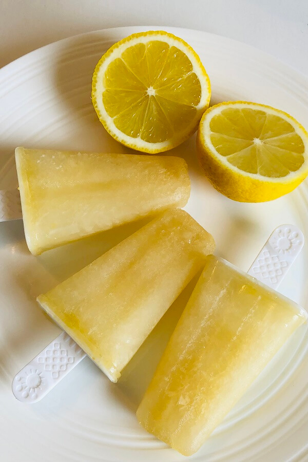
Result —
<path fill-rule="evenodd" d="M 222 194 L 240 202 L 283 196 L 308 174 L 308 134 L 286 112 L 243 101 L 210 107 L 197 151 L 205 175 Z"/>

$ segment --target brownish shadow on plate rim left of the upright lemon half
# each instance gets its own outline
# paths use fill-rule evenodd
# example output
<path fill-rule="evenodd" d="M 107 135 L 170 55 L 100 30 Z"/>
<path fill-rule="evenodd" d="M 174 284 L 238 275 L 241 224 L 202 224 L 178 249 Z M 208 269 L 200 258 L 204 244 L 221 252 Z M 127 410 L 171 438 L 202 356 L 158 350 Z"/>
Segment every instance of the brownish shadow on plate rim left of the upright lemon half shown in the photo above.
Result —
<path fill-rule="evenodd" d="M 69 139 L 67 149 L 133 152 L 109 135 L 99 121 L 91 101 L 94 68 L 113 43 L 108 30 L 98 31 L 72 37 L 67 48 L 58 54 L 53 74 L 54 87 L 59 94 L 59 104 L 68 114 L 68 122 L 74 119 L 74 127 L 78 130 L 76 136 Z M 86 144 L 83 139 L 87 140 Z"/>

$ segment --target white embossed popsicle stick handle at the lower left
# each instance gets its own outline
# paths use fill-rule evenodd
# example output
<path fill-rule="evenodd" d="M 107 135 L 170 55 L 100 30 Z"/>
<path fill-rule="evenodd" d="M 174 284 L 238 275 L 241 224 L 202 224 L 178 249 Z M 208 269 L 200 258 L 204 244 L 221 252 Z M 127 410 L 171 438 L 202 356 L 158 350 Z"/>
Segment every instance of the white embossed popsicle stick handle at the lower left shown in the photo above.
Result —
<path fill-rule="evenodd" d="M 15 375 L 12 382 L 15 398 L 28 403 L 40 401 L 85 356 L 79 345 L 62 332 Z"/>

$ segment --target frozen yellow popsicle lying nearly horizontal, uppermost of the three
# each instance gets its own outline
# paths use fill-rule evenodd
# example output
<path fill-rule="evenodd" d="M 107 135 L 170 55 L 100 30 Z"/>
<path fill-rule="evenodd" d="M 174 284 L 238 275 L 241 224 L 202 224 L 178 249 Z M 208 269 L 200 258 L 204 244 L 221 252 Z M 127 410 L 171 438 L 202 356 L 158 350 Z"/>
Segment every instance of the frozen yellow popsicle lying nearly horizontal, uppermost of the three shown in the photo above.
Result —
<path fill-rule="evenodd" d="M 33 255 L 170 206 L 190 194 L 178 157 L 15 150 L 27 244 Z"/>

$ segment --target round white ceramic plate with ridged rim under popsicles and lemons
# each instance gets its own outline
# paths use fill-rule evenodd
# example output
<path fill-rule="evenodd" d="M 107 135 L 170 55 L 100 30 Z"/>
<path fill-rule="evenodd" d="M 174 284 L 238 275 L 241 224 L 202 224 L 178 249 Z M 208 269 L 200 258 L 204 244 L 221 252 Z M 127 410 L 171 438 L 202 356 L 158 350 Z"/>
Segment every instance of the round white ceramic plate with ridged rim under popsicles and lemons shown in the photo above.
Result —
<path fill-rule="evenodd" d="M 121 38 L 146 27 L 83 34 L 36 50 L 0 70 L 0 188 L 16 185 L 17 145 L 129 152 L 104 130 L 91 104 L 91 77 L 101 55 Z M 152 28 L 153 29 L 153 28 Z M 227 38 L 167 28 L 200 55 L 209 74 L 212 103 L 247 100 L 283 109 L 308 121 L 308 81 L 260 51 Z M 131 151 L 130 151 L 131 152 Z M 279 224 L 299 226 L 308 239 L 308 184 L 265 204 L 241 204 L 206 181 L 195 137 L 170 151 L 189 165 L 192 191 L 186 207 L 217 242 L 217 254 L 247 270 Z M 147 434 L 135 411 L 168 337 L 192 290 L 171 307 L 123 372 L 111 383 L 88 359 L 34 405 L 15 400 L 13 376 L 59 332 L 35 297 L 101 255 L 138 227 L 34 258 L 21 221 L 0 223 L 0 460 L 3 462 L 185 460 Z M 308 248 L 288 274 L 282 292 L 307 308 Z M 193 460 L 308 460 L 308 332 L 298 330 Z"/>

